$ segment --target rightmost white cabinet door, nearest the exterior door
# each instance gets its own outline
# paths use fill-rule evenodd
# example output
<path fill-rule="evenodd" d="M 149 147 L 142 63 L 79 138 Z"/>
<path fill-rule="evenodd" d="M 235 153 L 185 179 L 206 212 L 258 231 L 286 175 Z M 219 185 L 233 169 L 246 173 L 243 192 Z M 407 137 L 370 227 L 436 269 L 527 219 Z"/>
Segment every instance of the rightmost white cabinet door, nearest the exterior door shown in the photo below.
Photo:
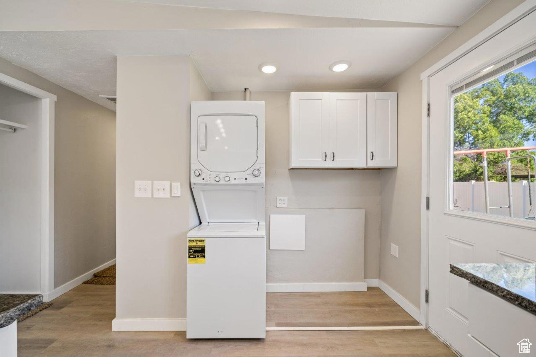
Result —
<path fill-rule="evenodd" d="M 397 93 L 367 94 L 367 166 L 397 166 Z"/>

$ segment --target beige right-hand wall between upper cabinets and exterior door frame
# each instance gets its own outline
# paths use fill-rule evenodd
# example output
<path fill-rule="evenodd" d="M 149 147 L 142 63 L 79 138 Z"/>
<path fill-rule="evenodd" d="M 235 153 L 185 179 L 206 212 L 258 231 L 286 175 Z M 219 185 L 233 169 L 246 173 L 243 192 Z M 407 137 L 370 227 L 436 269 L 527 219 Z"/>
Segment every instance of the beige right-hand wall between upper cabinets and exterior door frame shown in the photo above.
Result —
<path fill-rule="evenodd" d="M 382 170 L 380 174 L 380 279 L 416 307 L 420 305 L 420 74 L 522 2 L 492 0 L 382 88 L 384 92 L 398 92 L 398 168 Z M 398 258 L 390 254 L 391 243 L 398 245 Z"/>

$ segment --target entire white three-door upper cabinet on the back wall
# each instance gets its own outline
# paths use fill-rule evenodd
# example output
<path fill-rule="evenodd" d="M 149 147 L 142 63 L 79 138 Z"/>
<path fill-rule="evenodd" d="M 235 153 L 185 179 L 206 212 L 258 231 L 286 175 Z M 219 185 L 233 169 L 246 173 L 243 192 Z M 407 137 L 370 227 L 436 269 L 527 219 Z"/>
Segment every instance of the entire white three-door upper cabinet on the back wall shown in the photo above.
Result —
<path fill-rule="evenodd" d="M 397 165 L 397 93 L 291 93 L 289 168 Z"/>

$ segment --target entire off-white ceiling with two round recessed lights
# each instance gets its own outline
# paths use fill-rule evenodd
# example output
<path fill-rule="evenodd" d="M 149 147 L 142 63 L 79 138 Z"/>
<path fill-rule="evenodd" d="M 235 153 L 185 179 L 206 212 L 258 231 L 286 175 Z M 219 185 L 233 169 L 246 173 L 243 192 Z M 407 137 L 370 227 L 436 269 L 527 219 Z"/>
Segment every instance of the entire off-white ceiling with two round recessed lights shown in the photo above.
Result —
<path fill-rule="evenodd" d="M 115 94 L 116 56 L 191 56 L 213 92 L 379 88 L 487 0 L 54 2 L 5 4 L 0 57 L 115 109 L 99 95 Z"/>

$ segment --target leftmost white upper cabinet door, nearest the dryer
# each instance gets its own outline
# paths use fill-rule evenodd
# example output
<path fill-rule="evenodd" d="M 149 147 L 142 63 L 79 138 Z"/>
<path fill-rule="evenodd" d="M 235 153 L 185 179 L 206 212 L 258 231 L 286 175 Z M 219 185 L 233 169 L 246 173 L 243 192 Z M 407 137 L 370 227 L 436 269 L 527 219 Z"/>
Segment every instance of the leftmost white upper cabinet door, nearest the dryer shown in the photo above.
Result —
<path fill-rule="evenodd" d="M 329 166 L 329 93 L 291 93 L 289 166 Z"/>

